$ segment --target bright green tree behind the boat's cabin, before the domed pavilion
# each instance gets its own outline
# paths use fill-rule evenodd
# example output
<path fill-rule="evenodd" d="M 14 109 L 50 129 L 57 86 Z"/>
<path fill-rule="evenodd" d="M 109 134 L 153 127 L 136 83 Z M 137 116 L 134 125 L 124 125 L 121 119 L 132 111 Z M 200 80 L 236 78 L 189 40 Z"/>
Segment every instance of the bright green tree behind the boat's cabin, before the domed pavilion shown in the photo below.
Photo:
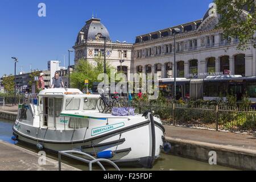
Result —
<path fill-rule="evenodd" d="M 100 73 L 104 73 L 104 61 L 101 57 L 94 59 L 94 63 L 90 63 L 88 60 L 80 59 L 75 65 L 75 71 L 71 73 L 71 86 L 82 90 L 84 88 L 84 80 L 89 80 L 88 88 L 92 88 L 93 82 L 99 82 L 97 80 Z M 112 67 L 106 61 L 106 72 L 110 78 L 110 69 Z"/>

